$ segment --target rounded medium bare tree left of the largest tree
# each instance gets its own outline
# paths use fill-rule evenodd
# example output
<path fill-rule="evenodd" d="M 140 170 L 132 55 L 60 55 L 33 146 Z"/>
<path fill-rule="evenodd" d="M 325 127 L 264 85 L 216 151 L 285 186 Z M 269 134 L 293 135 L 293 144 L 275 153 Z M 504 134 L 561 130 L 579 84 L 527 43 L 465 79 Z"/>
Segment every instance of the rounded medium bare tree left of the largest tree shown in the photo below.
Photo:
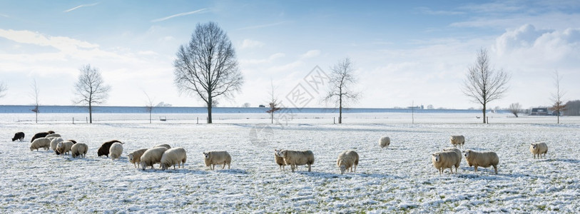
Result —
<path fill-rule="evenodd" d="M 78 70 L 81 71 L 81 74 L 78 76 L 78 82 L 74 85 L 77 98 L 73 102 L 88 105 L 89 121 L 93 123 L 93 105 L 105 103 L 111 86 L 104 83 L 101 71 L 91 67 L 90 64 Z"/>

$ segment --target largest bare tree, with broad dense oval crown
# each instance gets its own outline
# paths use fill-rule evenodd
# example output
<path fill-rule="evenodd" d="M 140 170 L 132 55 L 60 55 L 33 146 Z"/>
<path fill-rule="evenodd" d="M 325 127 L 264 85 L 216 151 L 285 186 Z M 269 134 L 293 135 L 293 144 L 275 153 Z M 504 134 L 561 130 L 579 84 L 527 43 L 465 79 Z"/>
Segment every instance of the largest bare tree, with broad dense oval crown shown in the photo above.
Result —
<path fill-rule="evenodd" d="M 195 26 L 191 41 L 179 47 L 173 66 L 179 92 L 205 102 L 208 123 L 212 123 L 211 108 L 217 104 L 216 97 L 233 96 L 244 81 L 233 45 L 215 22 Z"/>

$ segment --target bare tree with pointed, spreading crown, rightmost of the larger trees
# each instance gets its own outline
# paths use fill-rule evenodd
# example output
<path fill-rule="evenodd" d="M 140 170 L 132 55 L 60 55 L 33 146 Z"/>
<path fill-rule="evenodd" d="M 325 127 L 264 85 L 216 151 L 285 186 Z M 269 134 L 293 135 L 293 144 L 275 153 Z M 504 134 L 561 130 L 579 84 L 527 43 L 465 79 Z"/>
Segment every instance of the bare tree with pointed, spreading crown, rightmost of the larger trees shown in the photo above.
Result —
<path fill-rule="evenodd" d="M 496 70 L 489 63 L 486 49 L 477 52 L 477 59 L 463 81 L 463 93 L 474 103 L 482 104 L 483 123 L 486 122 L 487 103 L 500 99 L 506 93 L 507 83 L 512 78 L 502 69 Z"/>

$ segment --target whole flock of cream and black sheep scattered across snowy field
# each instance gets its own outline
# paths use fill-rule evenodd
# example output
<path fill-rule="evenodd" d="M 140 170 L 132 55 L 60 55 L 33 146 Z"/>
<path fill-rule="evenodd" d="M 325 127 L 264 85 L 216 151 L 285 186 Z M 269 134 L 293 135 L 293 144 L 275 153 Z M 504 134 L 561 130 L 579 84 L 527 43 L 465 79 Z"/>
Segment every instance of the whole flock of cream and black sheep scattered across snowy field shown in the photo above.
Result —
<path fill-rule="evenodd" d="M 12 141 L 24 140 L 24 133 L 19 132 L 14 134 Z M 381 148 L 387 148 L 390 145 L 390 138 L 385 136 L 379 139 L 379 146 Z M 434 168 L 439 170 L 439 175 L 441 175 L 445 169 L 449 168 L 451 173 L 453 173 L 453 167 L 455 167 L 455 173 L 457 174 L 457 169 L 462 159 L 462 151 L 457 149 L 457 146 L 462 148 L 465 143 L 464 136 L 451 136 L 449 142 L 454 146 L 454 148 L 445 148 L 443 151 L 433 153 L 431 161 Z M 74 140 L 64 141 L 61 135 L 54 133 L 54 131 L 47 131 L 36 133 L 33 138 L 31 138 L 30 151 L 39 150 L 39 148 L 44 148 L 46 151 L 51 149 L 56 153 L 56 155 L 71 153 L 73 158 L 82 157 L 84 158 L 86 152 L 88 151 L 88 146 L 85 143 L 76 143 Z M 546 156 L 548 152 L 548 146 L 546 143 L 531 143 L 529 151 L 532 153 L 534 158 L 541 158 L 541 155 Z M 123 153 L 123 143 L 121 141 L 108 141 L 98 148 L 98 156 L 111 156 L 112 160 L 118 159 Z M 232 162 L 232 157 L 227 151 L 208 151 L 203 153 L 205 166 L 210 169 L 214 169 L 215 165 L 228 165 Z M 497 165 L 499 164 L 499 156 L 494 152 L 477 152 L 472 150 L 466 150 L 463 154 L 465 161 L 469 167 L 474 166 L 475 171 L 479 166 L 484 168 L 489 168 L 492 166 L 494 168 L 494 173 L 497 174 Z M 133 163 L 135 168 L 141 168 L 146 170 L 148 166 L 153 169 L 153 164 L 158 163 L 162 170 L 166 170 L 171 165 L 175 169 L 175 165 L 178 168 L 183 168 L 185 161 L 187 160 L 187 154 L 185 149 L 177 147 L 171 148 L 168 144 L 160 144 L 153 146 L 151 148 L 142 148 L 133 151 L 128 154 L 128 160 Z M 292 151 L 292 150 L 275 150 L 274 160 L 280 167 L 280 170 L 285 170 L 285 165 L 290 165 L 292 172 L 297 170 L 298 165 L 307 165 L 308 171 L 312 170 L 311 166 L 314 164 L 314 153 L 312 151 Z M 341 174 L 345 172 L 356 172 L 357 165 L 359 163 L 359 155 L 356 151 L 343 151 L 339 154 L 337 158 L 337 167 Z"/>

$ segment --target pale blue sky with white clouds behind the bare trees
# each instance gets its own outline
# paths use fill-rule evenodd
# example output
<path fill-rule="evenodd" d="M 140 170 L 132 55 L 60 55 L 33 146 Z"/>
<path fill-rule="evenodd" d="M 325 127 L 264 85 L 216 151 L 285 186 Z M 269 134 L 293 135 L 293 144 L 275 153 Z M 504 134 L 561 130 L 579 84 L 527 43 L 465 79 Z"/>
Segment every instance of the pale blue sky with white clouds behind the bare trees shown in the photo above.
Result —
<path fill-rule="evenodd" d="M 195 25 L 217 22 L 245 76 L 219 106 L 268 101 L 270 82 L 285 106 L 315 66 L 355 63 L 362 98 L 351 107 L 478 108 L 461 92 L 480 48 L 512 73 L 490 106 L 549 106 L 552 74 L 565 100 L 580 99 L 580 1 L 0 1 L 0 105 L 72 104 L 78 68 L 90 63 L 111 85 L 107 106 L 203 106 L 173 84 L 178 46 Z M 310 107 L 322 91 L 309 92 Z"/>

